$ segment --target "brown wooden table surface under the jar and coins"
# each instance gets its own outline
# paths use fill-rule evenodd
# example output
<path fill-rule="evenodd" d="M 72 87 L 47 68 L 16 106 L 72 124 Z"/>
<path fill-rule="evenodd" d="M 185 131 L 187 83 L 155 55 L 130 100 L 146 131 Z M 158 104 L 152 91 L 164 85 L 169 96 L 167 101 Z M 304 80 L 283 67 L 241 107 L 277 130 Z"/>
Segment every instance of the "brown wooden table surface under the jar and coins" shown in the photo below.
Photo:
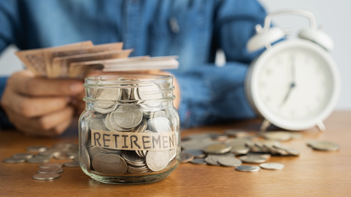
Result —
<path fill-rule="evenodd" d="M 0 196 L 351 196 L 351 111 L 334 112 L 325 124 L 325 133 L 310 129 L 301 132 L 300 140 L 282 142 L 301 152 L 300 157 L 269 159 L 284 164 L 283 170 L 239 172 L 234 168 L 185 163 L 167 179 L 156 183 L 110 185 L 90 179 L 80 168 L 67 167 L 59 179 L 36 181 L 32 176 L 38 164 L 0 162 Z M 259 125 L 259 120 L 234 122 L 185 130 L 182 136 L 233 128 L 256 132 Z M 312 150 L 306 146 L 308 140 L 335 142 L 340 150 Z M 28 138 L 16 131 L 1 131 L 0 160 L 25 152 L 27 146 L 51 147 L 58 142 L 78 140 L 77 137 Z"/>

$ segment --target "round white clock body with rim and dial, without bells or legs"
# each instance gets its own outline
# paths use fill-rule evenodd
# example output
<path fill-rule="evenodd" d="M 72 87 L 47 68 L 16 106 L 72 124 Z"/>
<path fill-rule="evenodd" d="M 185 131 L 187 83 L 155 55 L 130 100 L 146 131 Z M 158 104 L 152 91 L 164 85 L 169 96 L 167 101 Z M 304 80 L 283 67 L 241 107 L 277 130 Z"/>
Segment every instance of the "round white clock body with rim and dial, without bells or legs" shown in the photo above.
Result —
<path fill-rule="evenodd" d="M 278 127 L 307 129 L 324 120 L 335 106 L 337 68 L 317 44 L 285 42 L 254 63 L 251 99 L 258 112 Z"/>

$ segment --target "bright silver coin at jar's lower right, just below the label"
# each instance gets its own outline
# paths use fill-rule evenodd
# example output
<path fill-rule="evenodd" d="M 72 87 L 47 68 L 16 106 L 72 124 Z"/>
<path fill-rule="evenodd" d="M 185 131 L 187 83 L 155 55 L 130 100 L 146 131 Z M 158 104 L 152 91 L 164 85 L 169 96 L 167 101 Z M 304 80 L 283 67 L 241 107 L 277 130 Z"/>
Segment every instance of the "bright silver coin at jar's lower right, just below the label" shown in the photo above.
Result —
<path fill-rule="evenodd" d="M 169 163 L 169 150 L 150 150 L 146 155 L 147 167 L 157 172 L 163 170 Z"/>

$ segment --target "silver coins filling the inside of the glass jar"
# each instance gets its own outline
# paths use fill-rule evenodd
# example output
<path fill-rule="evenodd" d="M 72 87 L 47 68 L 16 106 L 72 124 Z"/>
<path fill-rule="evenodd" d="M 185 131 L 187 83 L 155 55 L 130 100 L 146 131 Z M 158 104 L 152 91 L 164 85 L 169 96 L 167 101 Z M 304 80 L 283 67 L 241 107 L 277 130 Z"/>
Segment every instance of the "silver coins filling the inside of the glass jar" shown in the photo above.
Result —
<path fill-rule="evenodd" d="M 127 79 L 119 78 L 117 81 Z M 150 84 L 152 84 L 150 86 Z M 100 86 L 102 86 L 100 84 Z M 123 87 L 123 86 L 122 86 Z M 86 146 L 82 146 L 82 163 L 89 172 L 102 174 L 147 174 L 165 170 L 173 165 L 177 148 L 168 150 L 116 150 L 93 146 L 91 130 L 117 131 L 132 133 L 162 133 L 173 131 L 169 121 L 169 109 L 157 99 L 162 99 L 160 88 L 155 83 L 133 88 L 99 88 L 90 96 L 96 99 L 93 103 L 94 114 L 87 120 L 85 135 Z M 141 100 L 156 100 L 152 103 L 141 103 Z M 121 104 L 117 105 L 116 101 Z"/>

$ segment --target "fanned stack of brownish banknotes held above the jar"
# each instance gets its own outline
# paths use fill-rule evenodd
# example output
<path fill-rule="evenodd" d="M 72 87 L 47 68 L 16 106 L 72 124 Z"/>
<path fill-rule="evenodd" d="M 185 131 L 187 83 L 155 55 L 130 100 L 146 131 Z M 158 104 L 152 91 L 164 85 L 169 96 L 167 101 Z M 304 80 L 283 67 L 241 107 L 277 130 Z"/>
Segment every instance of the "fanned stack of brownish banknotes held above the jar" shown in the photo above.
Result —
<path fill-rule="evenodd" d="M 60 47 L 17 51 L 16 55 L 38 77 L 84 78 L 93 70 L 103 72 L 178 68 L 177 56 L 129 57 L 123 42 L 94 45 L 91 41 Z"/>

